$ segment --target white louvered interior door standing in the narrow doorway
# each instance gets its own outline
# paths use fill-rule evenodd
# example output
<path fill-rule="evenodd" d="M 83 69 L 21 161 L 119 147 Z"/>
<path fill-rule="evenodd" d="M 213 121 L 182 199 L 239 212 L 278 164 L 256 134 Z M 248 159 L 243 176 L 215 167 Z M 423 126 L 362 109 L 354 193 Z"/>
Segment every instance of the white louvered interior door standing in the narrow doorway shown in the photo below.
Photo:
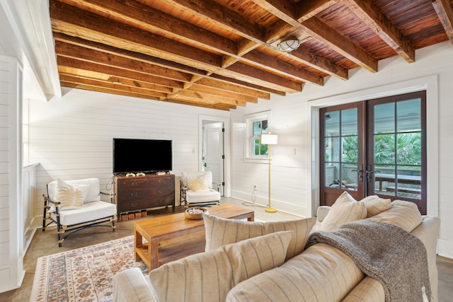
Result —
<path fill-rule="evenodd" d="M 224 155 L 224 127 L 223 122 L 205 124 L 203 130 L 203 161 L 202 170 L 212 172 L 212 185 L 219 184 L 220 194 L 223 196 L 223 155 Z"/>

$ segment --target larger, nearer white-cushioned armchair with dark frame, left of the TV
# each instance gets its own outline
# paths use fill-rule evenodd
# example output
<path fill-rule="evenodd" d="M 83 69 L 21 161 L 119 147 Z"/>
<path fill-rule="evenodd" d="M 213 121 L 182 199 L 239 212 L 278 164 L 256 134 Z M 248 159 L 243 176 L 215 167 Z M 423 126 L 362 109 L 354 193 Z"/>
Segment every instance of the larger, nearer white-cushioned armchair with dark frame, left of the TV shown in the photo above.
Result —
<path fill-rule="evenodd" d="M 102 201 L 101 194 L 110 195 L 110 202 Z M 42 196 L 42 231 L 56 223 L 59 247 L 65 238 L 84 228 L 108 226 L 115 231 L 113 194 L 101 192 L 98 178 L 52 181 L 47 184 L 47 196 Z"/>

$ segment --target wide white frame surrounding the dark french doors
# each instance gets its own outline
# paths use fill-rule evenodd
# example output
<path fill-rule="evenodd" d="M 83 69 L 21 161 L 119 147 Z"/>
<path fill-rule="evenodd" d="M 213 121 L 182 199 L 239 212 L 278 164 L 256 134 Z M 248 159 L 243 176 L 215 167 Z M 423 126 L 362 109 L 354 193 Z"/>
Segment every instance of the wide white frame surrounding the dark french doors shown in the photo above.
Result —
<path fill-rule="evenodd" d="M 438 79 L 437 75 L 423 76 L 418 79 L 390 83 L 383 86 L 367 88 L 361 91 L 344 93 L 339 95 L 326 96 L 308 100 L 307 105 L 307 150 L 309 150 L 309 163 L 307 172 L 310 178 L 307 182 L 307 216 L 316 216 L 316 209 L 319 207 L 319 109 L 333 105 L 355 103 L 360 100 L 372 100 L 386 96 L 411 93 L 415 91 L 426 91 L 426 134 L 427 134 L 427 214 L 438 216 L 439 211 L 439 155 L 438 155 Z"/>

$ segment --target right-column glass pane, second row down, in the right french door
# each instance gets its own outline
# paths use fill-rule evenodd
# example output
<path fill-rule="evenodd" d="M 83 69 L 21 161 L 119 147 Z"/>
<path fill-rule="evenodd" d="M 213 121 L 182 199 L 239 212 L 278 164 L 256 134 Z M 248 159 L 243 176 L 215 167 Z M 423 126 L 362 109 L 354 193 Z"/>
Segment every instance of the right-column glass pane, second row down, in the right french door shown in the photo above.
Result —
<path fill-rule="evenodd" d="M 422 139 L 420 132 L 398 134 L 396 146 L 399 165 L 421 165 Z"/>

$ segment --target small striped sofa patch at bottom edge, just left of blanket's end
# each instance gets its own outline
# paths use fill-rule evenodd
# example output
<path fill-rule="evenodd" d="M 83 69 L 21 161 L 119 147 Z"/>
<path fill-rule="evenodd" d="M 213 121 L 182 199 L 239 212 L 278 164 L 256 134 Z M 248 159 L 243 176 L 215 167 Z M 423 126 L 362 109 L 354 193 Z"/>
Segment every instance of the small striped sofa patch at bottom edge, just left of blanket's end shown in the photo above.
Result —
<path fill-rule="evenodd" d="M 342 302 L 384 302 L 385 292 L 382 284 L 372 277 L 365 277 Z"/>

